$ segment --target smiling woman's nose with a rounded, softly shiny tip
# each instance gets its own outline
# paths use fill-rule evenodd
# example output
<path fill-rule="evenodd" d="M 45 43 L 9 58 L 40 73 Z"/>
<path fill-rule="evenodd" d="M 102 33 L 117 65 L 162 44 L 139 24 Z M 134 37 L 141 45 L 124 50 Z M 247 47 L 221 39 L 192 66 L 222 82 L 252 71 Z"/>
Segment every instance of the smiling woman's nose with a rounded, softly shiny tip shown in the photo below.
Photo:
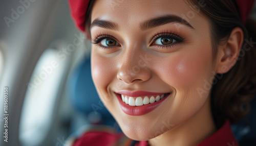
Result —
<path fill-rule="evenodd" d="M 144 82 L 151 78 L 149 65 L 150 58 L 147 55 L 139 55 L 133 53 L 132 55 L 125 55 L 122 59 L 121 66 L 117 73 L 117 79 L 125 82 L 126 84 L 133 84 Z"/>

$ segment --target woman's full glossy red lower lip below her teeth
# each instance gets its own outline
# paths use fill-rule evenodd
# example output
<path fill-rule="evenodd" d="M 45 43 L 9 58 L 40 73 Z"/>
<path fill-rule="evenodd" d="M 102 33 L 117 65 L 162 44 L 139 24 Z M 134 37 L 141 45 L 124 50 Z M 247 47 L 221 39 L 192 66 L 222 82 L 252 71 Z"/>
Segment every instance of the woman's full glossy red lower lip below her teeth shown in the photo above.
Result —
<path fill-rule="evenodd" d="M 147 104 L 147 105 L 143 105 L 143 106 L 130 106 L 128 104 L 125 104 L 122 101 L 121 95 L 116 93 L 117 99 L 119 101 L 120 107 L 122 109 L 122 111 L 128 115 L 144 115 L 147 114 L 151 111 L 153 111 L 154 109 L 156 109 L 168 96 L 169 94 L 165 95 L 164 98 L 162 98 L 161 100 L 152 103 L 152 104 Z"/>

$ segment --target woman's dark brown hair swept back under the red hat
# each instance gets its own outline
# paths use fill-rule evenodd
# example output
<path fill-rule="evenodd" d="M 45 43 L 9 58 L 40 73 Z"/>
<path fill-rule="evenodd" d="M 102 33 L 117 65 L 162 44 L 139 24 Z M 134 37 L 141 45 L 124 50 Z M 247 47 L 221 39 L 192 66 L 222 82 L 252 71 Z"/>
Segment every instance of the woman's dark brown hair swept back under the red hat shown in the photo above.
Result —
<path fill-rule="evenodd" d="M 211 89 L 211 111 L 218 127 L 225 119 L 232 123 L 243 118 L 249 111 L 249 102 L 256 92 L 256 47 L 255 21 L 248 19 L 243 25 L 239 10 L 234 0 L 205 0 L 206 5 L 199 5 L 203 0 L 190 0 L 188 4 L 198 6 L 200 14 L 210 21 L 211 43 L 214 58 L 218 45 L 226 42 L 231 31 L 240 27 L 244 32 L 244 42 L 237 63 L 226 74 L 216 75 L 218 82 Z M 94 1 L 87 9 L 86 30 L 90 35 L 91 11 Z M 246 44 L 247 43 L 247 44 Z M 250 48 L 248 48 L 250 47 Z"/>

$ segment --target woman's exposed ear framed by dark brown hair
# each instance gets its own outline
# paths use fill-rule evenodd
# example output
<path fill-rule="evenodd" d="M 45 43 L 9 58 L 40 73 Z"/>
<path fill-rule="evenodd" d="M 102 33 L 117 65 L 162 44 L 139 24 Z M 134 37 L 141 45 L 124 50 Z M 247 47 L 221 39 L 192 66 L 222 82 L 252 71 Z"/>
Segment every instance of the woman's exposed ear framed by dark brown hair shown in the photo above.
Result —
<path fill-rule="evenodd" d="M 219 46 L 216 72 L 224 74 L 236 64 L 243 44 L 244 34 L 241 28 L 234 28 L 228 40 Z"/>

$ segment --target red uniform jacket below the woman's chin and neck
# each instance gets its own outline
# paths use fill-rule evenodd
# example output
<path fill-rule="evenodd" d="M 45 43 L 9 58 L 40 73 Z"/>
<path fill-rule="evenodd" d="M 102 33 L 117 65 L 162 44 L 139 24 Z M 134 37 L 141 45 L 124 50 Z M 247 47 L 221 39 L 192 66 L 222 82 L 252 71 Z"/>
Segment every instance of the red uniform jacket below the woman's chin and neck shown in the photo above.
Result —
<path fill-rule="evenodd" d="M 81 145 L 93 145 L 93 146 L 146 146 L 147 141 L 134 141 L 127 138 L 122 133 L 116 133 L 114 130 L 109 128 L 98 128 L 87 131 L 82 134 L 79 138 L 74 138 L 72 142 L 69 141 L 69 145 L 81 146 Z M 227 120 L 225 124 L 214 134 L 197 144 L 196 146 L 238 146 L 238 142 L 234 137 L 230 123 Z"/>

